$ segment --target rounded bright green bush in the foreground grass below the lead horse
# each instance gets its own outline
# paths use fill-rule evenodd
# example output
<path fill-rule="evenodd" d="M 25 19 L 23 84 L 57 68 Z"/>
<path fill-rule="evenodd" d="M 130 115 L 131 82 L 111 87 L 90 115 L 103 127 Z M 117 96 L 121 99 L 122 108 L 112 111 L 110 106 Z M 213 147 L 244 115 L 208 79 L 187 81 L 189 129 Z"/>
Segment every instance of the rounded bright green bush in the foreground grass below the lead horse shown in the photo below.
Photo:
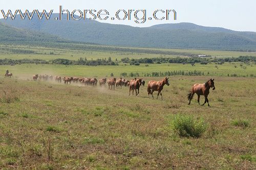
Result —
<path fill-rule="evenodd" d="M 200 137 L 208 128 L 208 124 L 202 118 L 195 119 L 193 116 L 178 114 L 174 117 L 172 127 L 180 136 Z"/>

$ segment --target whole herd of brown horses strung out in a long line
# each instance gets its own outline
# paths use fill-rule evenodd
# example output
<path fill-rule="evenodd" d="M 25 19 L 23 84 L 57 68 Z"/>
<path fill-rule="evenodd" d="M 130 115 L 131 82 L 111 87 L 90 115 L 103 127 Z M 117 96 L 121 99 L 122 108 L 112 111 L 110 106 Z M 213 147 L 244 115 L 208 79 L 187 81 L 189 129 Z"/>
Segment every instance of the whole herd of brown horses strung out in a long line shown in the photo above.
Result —
<path fill-rule="evenodd" d="M 65 84 L 71 84 L 72 83 L 80 83 L 81 85 L 89 85 L 89 86 L 97 86 L 97 83 L 99 82 L 99 85 L 102 87 L 106 87 L 106 85 L 108 85 L 108 89 L 115 89 L 116 88 L 122 88 L 122 86 L 125 87 L 129 87 L 129 95 L 131 95 L 131 91 L 132 94 L 134 95 L 134 91 L 135 94 L 138 95 L 139 94 L 139 89 L 140 86 L 144 86 L 145 85 L 145 81 L 142 80 L 142 78 L 134 78 L 132 80 L 125 80 L 123 78 L 110 78 L 110 79 L 99 79 L 97 80 L 96 78 L 78 78 L 78 77 L 63 77 L 61 79 L 60 76 L 55 76 L 54 77 L 55 81 L 58 83 L 61 83 L 62 81 Z M 148 99 L 150 98 L 150 94 L 152 95 L 152 99 L 154 99 L 153 96 L 153 92 L 157 91 L 157 99 L 158 96 L 160 94 L 161 96 L 161 100 L 162 99 L 162 90 L 163 90 L 163 86 L 166 84 L 167 86 L 170 85 L 169 83 L 169 78 L 164 78 L 160 81 L 154 81 L 151 80 L 147 83 L 147 94 L 148 94 Z M 53 76 L 52 75 L 33 75 L 33 80 L 44 80 L 44 81 L 53 81 Z M 189 101 L 188 105 L 190 105 L 191 100 L 193 99 L 194 94 L 196 93 L 198 95 L 198 103 L 200 104 L 200 95 L 204 95 L 205 101 L 202 104 L 202 106 L 207 102 L 208 106 L 209 106 L 209 101 L 208 101 L 208 94 L 209 94 L 209 90 L 210 88 L 212 88 L 212 90 L 215 90 L 215 85 L 214 85 L 214 79 L 210 79 L 207 82 L 203 83 L 203 84 L 194 84 L 189 93 L 187 94 L 187 99 Z"/>

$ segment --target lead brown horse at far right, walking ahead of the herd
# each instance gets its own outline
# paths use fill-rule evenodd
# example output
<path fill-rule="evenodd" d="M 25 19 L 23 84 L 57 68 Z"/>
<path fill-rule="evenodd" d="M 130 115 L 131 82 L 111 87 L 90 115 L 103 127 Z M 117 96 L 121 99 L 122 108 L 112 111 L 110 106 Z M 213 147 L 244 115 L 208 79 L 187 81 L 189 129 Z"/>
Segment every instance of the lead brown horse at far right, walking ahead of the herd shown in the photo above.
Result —
<path fill-rule="evenodd" d="M 204 95 L 204 104 L 207 102 L 208 103 L 208 106 L 209 105 L 209 101 L 208 101 L 208 94 L 209 94 L 209 90 L 210 88 L 212 87 L 212 90 L 215 90 L 215 86 L 214 86 L 214 79 L 213 80 L 208 80 L 206 83 L 204 84 L 194 84 L 192 87 L 191 87 L 191 90 L 190 90 L 190 93 L 187 94 L 187 99 L 189 100 L 189 103 L 188 105 L 190 105 L 190 101 L 193 99 L 193 96 L 195 93 L 197 93 L 197 96 L 198 96 L 198 104 L 200 105 L 200 95 Z M 204 105 L 202 104 L 202 106 Z"/>

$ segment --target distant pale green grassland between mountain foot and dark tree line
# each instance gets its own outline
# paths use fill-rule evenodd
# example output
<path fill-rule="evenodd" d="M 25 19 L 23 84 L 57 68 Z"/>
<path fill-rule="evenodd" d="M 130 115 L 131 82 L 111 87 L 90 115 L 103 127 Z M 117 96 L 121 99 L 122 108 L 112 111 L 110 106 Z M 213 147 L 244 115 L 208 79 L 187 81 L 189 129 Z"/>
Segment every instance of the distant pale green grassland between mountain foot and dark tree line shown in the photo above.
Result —
<path fill-rule="evenodd" d="M 37 47 L 37 46 L 25 46 L 25 45 L 1 45 L 0 48 L 0 59 L 11 58 L 11 59 L 42 59 L 42 60 L 52 60 L 57 58 L 77 60 L 79 58 L 87 59 L 101 59 L 109 57 L 112 60 L 121 60 L 121 58 L 153 58 L 153 57 L 177 57 L 183 55 L 161 55 L 161 54 L 144 54 L 144 53 L 132 53 L 132 52 L 117 52 L 117 51 L 93 51 L 93 50 L 72 50 L 72 49 L 60 49 L 60 48 L 48 48 L 48 47 Z M 15 52 L 10 52 L 4 50 L 10 48 L 12 50 L 30 50 L 37 54 L 18 54 Z M 124 48 L 124 47 L 120 47 Z M 133 48 L 130 48 L 133 49 Z M 141 49 L 141 48 L 135 48 Z M 239 57 L 239 56 L 256 56 L 255 52 L 234 52 L 234 51 L 207 51 L 207 50 L 182 50 L 182 49 L 159 49 L 159 48 L 145 48 L 146 50 L 158 50 L 158 51 L 169 51 L 178 53 L 188 53 L 188 54 L 202 54 L 210 55 L 212 57 Z M 50 53 L 53 55 L 50 55 Z"/>

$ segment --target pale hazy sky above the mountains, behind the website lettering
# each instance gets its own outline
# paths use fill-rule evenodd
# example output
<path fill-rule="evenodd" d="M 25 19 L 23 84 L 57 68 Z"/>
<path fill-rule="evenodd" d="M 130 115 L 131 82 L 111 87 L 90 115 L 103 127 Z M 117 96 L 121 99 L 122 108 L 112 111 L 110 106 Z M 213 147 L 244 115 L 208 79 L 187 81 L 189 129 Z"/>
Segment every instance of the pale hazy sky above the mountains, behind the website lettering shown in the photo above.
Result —
<path fill-rule="evenodd" d="M 36 3 L 35 3 L 36 2 Z M 96 3 L 97 2 L 97 3 Z M 16 9 L 29 10 L 33 9 L 43 10 L 47 12 L 51 9 L 54 13 L 59 13 L 59 5 L 62 9 L 68 9 L 70 12 L 73 10 L 95 9 L 95 10 L 108 10 L 110 17 L 115 16 L 116 11 L 123 9 L 145 9 L 146 18 L 153 17 L 153 12 L 157 9 L 174 9 L 177 12 L 177 20 L 174 21 L 173 17 L 170 20 L 146 20 L 145 23 L 135 23 L 132 20 L 105 20 L 104 22 L 124 24 L 135 27 L 148 27 L 160 23 L 178 23 L 178 22 L 192 22 L 201 26 L 209 27 L 223 27 L 226 29 L 236 31 L 254 31 L 256 32 L 256 1 L 255 0 L 177 0 L 177 1 L 140 1 L 140 0 L 127 0 L 127 1 L 59 1 L 59 0 L 1 0 L 0 10 L 7 12 L 9 9 L 13 12 Z M 160 13 L 159 13 L 160 14 Z M 3 18 L 0 12 L 0 18 Z M 159 15 L 160 18 L 160 15 Z M 96 19 L 100 21 L 99 19 Z M 103 21 L 101 21 L 103 22 Z"/>

